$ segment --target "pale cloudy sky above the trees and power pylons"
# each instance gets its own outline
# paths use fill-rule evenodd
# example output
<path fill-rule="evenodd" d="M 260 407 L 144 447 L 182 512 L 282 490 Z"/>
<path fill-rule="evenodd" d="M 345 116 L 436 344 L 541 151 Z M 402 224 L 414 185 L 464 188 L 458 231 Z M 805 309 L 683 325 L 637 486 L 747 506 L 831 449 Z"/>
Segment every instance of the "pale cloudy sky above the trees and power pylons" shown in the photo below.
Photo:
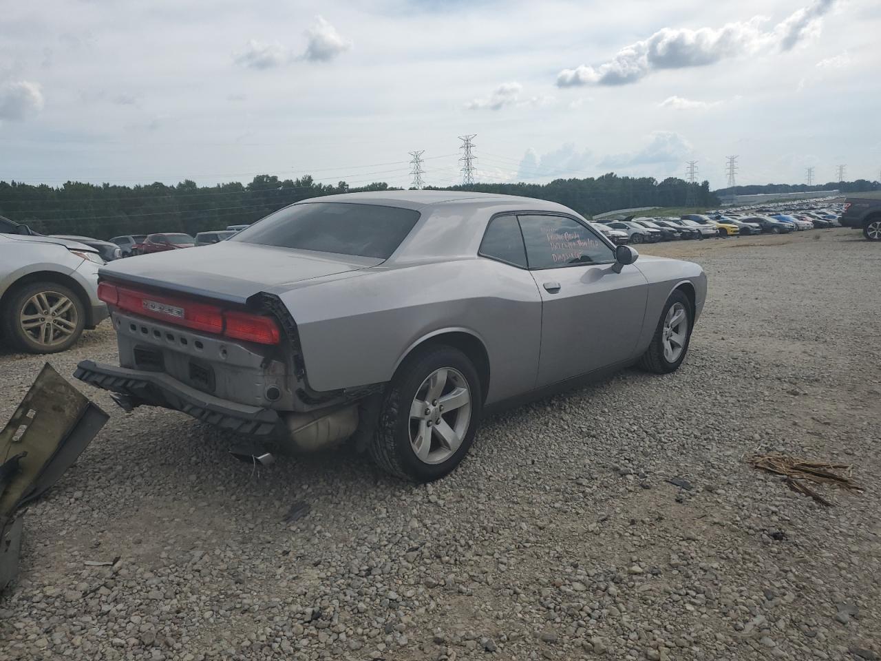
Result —
<path fill-rule="evenodd" d="M 877 0 L 0 6 L 0 181 L 881 176 Z"/>

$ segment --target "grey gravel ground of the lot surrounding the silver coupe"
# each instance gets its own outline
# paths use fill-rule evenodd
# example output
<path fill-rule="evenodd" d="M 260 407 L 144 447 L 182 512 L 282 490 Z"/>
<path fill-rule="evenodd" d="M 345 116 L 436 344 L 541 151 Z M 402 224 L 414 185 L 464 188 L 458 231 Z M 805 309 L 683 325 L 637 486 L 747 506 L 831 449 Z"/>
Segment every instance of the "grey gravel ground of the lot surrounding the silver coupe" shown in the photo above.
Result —
<path fill-rule="evenodd" d="M 0 657 L 877 659 L 878 246 L 640 248 L 709 276 L 677 374 L 487 420 L 429 486 L 348 452 L 255 470 L 210 427 L 78 384 L 111 420 L 26 515 Z M 107 325 L 49 360 L 84 357 L 115 361 Z M 0 355 L 4 419 L 42 361 Z M 825 508 L 751 470 L 757 450 L 854 464 L 865 491 L 821 488 Z"/>

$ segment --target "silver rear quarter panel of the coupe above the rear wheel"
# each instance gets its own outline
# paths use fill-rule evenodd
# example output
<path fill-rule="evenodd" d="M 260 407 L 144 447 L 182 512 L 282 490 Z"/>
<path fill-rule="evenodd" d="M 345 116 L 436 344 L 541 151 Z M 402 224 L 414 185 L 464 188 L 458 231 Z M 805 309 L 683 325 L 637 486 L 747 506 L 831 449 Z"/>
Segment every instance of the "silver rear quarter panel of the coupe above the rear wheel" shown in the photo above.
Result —
<path fill-rule="evenodd" d="M 377 267 L 279 294 L 315 390 L 388 382 L 425 338 L 463 331 L 490 361 L 487 403 L 534 387 L 541 297 L 529 271 L 483 257 Z"/>

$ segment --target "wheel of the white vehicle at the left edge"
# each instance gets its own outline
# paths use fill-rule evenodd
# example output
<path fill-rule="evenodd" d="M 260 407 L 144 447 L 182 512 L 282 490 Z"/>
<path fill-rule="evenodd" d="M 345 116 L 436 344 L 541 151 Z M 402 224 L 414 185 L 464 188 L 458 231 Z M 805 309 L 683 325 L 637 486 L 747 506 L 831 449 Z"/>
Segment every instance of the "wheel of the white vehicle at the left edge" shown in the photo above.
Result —
<path fill-rule="evenodd" d="M 56 282 L 17 287 L 0 313 L 5 337 L 28 353 L 69 349 L 85 328 L 85 304 L 70 287 Z"/>

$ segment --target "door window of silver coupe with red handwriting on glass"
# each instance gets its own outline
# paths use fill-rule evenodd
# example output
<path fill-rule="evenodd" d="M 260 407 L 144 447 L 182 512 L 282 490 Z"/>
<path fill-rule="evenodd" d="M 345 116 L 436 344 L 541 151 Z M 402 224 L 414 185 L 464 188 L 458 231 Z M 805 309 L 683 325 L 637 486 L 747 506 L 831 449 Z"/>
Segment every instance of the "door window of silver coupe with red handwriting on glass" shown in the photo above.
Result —
<path fill-rule="evenodd" d="M 615 261 L 611 248 L 581 223 L 561 216 L 519 216 L 530 269 Z"/>

